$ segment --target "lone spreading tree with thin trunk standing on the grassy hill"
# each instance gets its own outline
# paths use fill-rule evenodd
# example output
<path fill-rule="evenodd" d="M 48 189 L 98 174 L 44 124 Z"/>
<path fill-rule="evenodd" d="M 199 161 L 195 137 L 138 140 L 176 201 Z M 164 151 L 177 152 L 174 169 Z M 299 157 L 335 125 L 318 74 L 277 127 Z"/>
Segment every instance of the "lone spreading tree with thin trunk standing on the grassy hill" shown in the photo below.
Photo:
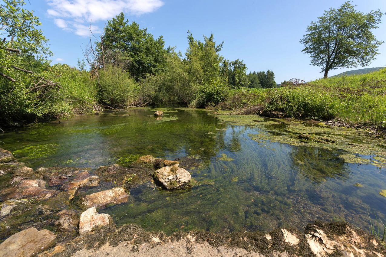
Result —
<path fill-rule="evenodd" d="M 371 31 L 378 28 L 382 15 L 380 10 L 358 12 L 350 2 L 325 10 L 307 27 L 300 41 L 302 52 L 310 55 L 312 65 L 322 67 L 325 78 L 332 69 L 369 65 L 383 43 Z"/>

